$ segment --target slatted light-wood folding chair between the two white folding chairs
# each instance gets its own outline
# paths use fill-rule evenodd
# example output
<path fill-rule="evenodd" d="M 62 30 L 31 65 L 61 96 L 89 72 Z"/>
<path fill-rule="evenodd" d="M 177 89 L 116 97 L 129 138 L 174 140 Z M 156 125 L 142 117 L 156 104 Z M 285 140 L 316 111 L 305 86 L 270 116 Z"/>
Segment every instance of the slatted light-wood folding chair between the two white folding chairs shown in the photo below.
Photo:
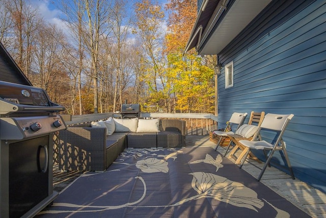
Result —
<path fill-rule="evenodd" d="M 240 160 L 243 158 L 243 153 L 240 154 L 239 157 L 236 157 L 235 156 L 235 153 L 241 149 L 242 151 L 244 150 L 244 147 L 242 146 L 241 143 L 239 143 L 239 140 L 249 140 L 249 141 L 255 141 L 256 138 L 260 138 L 260 135 L 259 134 L 256 134 L 257 131 L 258 131 L 258 128 L 260 127 L 261 123 L 263 122 L 263 119 L 264 119 L 264 116 L 265 116 L 265 112 L 262 111 L 262 112 L 254 112 L 252 111 L 251 114 L 250 114 L 250 118 L 249 118 L 249 122 L 248 122 L 248 125 L 255 125 L 255 132 L 253 132 L 253 134 L 250 134 L 249 136 L 247 136 L 246 132 L 249 128 L 246 128 L 244 129 L 244 131 L 241 131 L 241 132 L 238 132 L 239 134 L 234 134 L 234 135 L 230 135 L 229 138 L 230 138 L 230 143 L 224 153 L 224 156 L 227 154 L 230 146 L 231 146 L 231 143 L 233 142 L 234 144 L 234 147 L 233 149 L 231 150 L 228 158 L 234 158 L 236 159 L 235 161 L 235 164 L 239 164 L 240 163 Z M 242 126 L 243 127 L 243 126 Z M 261 162 L 253 153 L 250 153 L 249 154 L 249 157 L 253 160 L 256 160 L 258 162 Z"/>

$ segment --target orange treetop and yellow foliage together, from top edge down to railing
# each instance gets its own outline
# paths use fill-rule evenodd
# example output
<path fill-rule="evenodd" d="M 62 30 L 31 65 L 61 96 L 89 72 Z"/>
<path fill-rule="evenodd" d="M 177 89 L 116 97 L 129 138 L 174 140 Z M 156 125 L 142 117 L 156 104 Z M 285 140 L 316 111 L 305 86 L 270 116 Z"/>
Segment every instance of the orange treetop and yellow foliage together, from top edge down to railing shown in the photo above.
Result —
<path fill-rule="evenodd" d="M 182 112 L 213 111 L 212 64 L 194 51 L 183 54 L 197 15 L 196 0 L 170 0 L 166 55 L 169 78 L 176 98 L 175 110 Z"/>

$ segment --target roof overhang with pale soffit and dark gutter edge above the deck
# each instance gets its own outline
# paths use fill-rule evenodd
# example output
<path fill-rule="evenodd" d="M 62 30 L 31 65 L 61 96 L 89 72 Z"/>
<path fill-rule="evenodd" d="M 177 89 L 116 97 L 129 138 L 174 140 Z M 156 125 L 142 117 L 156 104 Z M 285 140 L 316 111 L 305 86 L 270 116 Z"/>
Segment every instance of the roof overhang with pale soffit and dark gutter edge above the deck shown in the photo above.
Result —
<path fill-rule="evenodd" d="M 184 53 L 219 54 L 271 0 L 204 0 Z M 205 7 L 206 5 L 206 7 Z"/>

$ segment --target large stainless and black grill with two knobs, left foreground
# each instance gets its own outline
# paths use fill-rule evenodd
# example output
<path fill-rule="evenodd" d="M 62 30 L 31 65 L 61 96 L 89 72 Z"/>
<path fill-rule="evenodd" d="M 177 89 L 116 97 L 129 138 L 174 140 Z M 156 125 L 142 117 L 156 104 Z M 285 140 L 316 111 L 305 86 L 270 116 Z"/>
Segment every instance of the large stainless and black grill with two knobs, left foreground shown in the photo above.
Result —
<path fill-rule="evenodd" d="M 63 106 L 29 85 L 0 81 L 0 217 L 33 217 L 53 191 L 53 134 L 66 129 Z"/>

